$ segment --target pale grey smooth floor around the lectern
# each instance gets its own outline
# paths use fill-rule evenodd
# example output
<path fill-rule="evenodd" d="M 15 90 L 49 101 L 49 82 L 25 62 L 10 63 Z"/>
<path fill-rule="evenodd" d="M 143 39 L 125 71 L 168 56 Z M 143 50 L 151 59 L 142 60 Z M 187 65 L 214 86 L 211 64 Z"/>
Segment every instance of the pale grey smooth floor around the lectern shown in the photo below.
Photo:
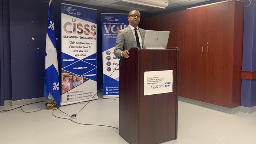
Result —
<path fill-rule="evenodd" d="M 76 118 L 83 124 L 118 128 L 118 98 L 91 101 Z M 86 103 L 86 102 L 85 102 Z M 0 106 L 1 110 L 17 106 Z M 60 109 L 76 114 L 84 105 L 77 103 Z M 44 109 L 44 103 L 22 107 L 24 111 Z M 20 109 L 0 113 L 0 144 L 127 144 L 115 128 L 80 125 L 60 111 L 40 110 L 24 113 Z M 256 113 L 228 114 L 178 102 L 178 139 L 165 144 L 256 144 Z"/>

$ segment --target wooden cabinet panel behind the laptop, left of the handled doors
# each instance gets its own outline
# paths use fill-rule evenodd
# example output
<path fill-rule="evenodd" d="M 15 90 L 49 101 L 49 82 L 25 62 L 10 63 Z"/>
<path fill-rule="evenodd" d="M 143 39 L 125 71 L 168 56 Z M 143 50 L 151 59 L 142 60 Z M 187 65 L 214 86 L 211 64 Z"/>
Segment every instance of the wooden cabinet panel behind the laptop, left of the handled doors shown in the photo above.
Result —
<path fill-rule="evenodd" d="M 179 49 L 178 96 L 182 96 L 184 11 L 172 12 L 141 19 L 139 27 L 145 30 L 170 31 L 167 48 Z"/>

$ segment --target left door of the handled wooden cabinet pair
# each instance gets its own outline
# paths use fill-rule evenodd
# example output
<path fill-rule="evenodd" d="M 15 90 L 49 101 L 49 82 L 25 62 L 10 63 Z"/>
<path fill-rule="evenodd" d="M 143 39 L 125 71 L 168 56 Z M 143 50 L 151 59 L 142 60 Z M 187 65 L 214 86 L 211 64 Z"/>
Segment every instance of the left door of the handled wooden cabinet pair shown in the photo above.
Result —
<path fill-rule="evenodd" d="M 203 101 L 205 7 L 184 14 L 183 96 Z"/>

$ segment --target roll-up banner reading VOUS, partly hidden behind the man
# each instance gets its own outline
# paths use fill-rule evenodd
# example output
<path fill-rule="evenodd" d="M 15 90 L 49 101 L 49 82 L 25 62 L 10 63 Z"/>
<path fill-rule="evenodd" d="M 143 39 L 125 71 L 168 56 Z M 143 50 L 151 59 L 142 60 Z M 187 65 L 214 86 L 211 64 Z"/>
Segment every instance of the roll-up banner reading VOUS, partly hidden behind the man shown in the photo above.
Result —
<path fill-rule="evenodd" d="M 114 56 L 114 48 L 118 31 L 129 26 L 127 16 L 101 13 L 103 98 L 119 97 L 119 58 Z"/>

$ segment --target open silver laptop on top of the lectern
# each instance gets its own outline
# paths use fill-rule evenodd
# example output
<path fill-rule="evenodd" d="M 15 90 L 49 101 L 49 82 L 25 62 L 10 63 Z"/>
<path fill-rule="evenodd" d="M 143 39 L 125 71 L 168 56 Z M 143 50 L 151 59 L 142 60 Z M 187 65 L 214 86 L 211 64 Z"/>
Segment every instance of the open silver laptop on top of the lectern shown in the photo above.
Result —
<path fill-rule="evenodd" d="M 170 31 L 146 30 L 143 49 L 166 49 Z"/>

